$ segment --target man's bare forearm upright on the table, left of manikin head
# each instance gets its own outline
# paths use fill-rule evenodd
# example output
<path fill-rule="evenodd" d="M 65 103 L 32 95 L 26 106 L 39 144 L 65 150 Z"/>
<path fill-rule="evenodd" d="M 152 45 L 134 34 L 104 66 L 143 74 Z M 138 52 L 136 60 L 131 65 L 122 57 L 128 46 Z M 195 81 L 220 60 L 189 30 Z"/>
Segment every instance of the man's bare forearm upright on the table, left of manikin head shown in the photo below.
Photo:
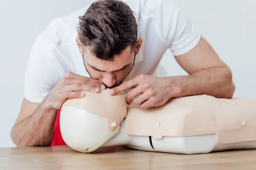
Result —
<path fill-rule="evenodd" d="M 56 109 L 42 103 L 32 116 L 13 127 L 12 140 L 17 146 L 49 146 L 53 139 L 56 113 Z"/>

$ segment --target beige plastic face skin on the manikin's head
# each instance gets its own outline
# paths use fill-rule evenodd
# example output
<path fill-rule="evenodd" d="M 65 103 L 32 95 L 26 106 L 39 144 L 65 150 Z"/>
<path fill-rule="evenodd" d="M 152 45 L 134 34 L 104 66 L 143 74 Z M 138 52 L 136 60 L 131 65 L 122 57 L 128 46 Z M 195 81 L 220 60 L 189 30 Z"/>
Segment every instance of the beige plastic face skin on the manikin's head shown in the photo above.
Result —
<path fill-rule="evenodd" d="M 99 93 L 83 92 L 85 94 L 83 98 L 67 99 L 62 106 L 80 108 L 89 113 L 104 117 L 108 121 L 108 129 L 111 131 L 116 130 L 127 115 L 125 94 L 120 93 L 112 96 L 110 89 L 101 90 Z"/>

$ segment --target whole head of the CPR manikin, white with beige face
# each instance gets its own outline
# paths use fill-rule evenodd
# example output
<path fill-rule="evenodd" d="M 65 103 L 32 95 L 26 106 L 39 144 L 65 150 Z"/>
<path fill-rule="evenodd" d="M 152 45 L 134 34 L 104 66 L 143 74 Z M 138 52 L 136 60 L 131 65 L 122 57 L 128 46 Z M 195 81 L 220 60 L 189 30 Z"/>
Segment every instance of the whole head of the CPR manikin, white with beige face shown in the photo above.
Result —
<path fill-rule="evenodd" d="M 84 91 L 79 99 L 67 99 L 60 113 L 60 130 L 64 142 L 74 150 L 90 153 L 119 132 L 127 115 L 125 94 L 110 95 Z"/>

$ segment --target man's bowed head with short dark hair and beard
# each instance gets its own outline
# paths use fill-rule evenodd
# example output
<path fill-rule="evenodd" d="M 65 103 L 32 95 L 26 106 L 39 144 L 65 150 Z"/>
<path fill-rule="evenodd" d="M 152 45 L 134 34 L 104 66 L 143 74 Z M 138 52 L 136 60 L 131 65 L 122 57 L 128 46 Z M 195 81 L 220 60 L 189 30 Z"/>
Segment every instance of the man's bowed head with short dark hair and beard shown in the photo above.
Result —
<path fill-rule="evenodd" d="M 79 17 L 77 45 L 90 77 L 106 88 L 122 83 L 142 45 L 131 8 L 119 0 L 98 0 Z"/>

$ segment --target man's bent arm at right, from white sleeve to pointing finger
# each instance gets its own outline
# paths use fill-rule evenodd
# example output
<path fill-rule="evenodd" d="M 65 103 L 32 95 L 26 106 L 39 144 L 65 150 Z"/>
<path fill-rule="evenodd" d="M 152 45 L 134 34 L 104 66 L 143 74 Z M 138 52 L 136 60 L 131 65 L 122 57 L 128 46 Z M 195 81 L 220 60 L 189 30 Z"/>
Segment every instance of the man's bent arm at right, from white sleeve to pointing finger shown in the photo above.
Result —
<path fill-rule="evenodd" d="M 231 98 L 235 91 L 232 73 L 211 45 L 198 33 L 186 14 L 173 0 L 155 1 L 156 38 L 166 43 L 179 65 L 189 76 L 154 77 L 138 75 L 111 90 L 111 95 L 131 89 L 132 100 L 141 108 L 165 104 L 170 98 L 208 94 Z M 136 97 L 136 98 L 135 98 Z"/>

